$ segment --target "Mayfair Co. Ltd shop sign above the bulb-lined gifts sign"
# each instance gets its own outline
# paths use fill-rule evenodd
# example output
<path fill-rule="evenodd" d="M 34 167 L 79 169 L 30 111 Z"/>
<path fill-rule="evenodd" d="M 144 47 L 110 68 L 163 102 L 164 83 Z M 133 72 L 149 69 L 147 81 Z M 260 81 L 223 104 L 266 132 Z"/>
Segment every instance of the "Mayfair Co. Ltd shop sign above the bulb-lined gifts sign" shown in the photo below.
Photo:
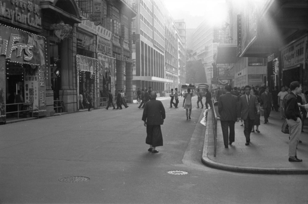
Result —
<path fill-rule="evenodd" d="M 38 0 L 1 0 L 0 18 L 28 29 L 42 29 L 41 8 Z"/>

